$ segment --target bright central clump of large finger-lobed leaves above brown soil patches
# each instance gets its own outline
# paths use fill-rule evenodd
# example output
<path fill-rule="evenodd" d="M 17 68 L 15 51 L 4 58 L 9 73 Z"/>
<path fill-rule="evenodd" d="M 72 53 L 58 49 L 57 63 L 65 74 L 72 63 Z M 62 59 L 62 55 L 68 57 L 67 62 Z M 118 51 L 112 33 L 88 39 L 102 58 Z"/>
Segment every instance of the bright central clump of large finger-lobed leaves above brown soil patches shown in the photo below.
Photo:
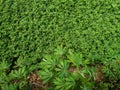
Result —
<path fill-rule="evenodd" d="M 65 55 L 62 47 L 55 51 L 53 56 L 46 55 L 40 63 L 38 75 L 44 84 L 48 83 L 51 90 L 91 90 L 94 68 L 88 67 L 89 61 L 83 61 L 81 54 L 71 50 Z"/>

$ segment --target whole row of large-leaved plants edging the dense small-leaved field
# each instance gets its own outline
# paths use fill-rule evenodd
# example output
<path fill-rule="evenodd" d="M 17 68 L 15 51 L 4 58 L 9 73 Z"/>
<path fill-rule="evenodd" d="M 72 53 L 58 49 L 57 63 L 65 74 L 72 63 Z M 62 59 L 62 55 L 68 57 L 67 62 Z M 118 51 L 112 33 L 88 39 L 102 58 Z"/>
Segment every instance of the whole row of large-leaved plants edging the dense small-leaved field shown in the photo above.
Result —
<path fill-rule="evenodd" d="M 98 65 L 92 65 L 88 59 L 84 60 L 81 53 L 75 53 L 71 49 L 66 50 L 59 46 L 54 53 L 45 55 L 37 64 L 27 66 L 21 64 L 22 62 L 24 60 L 16 61 L 10 73 L 7 73 L 10 65 L 5 61 L 0 63 L 2 90 L 26 90 L 28 88 L 31 90 L 28 75 L 34 70 L 37 70 L 36 74 L 42 81 L 39 86 L 40 90 L 120 89 L 120 60 L 111 62 L 106 60 L 102 67 L 98 67 Z"/>

